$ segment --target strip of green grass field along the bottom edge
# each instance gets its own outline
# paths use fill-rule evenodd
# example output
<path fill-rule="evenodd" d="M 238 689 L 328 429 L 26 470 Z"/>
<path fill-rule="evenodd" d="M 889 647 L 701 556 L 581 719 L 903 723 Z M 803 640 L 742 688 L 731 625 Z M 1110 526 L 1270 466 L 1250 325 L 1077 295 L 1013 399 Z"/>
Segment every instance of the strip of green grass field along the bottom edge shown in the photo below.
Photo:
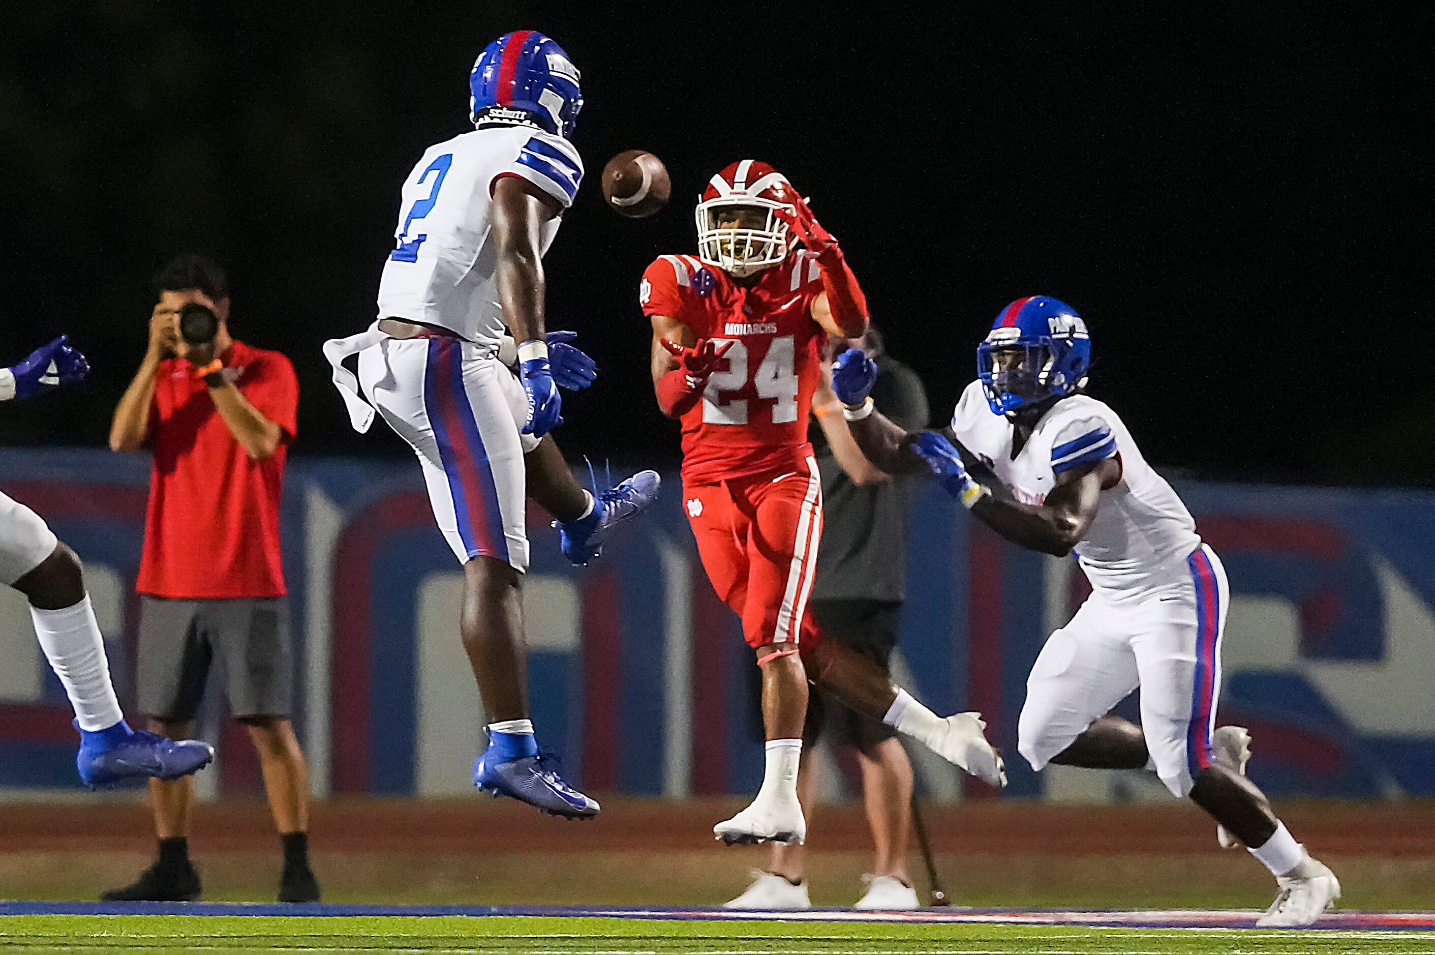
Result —
<path fill-rule="evenodd" d="M 0 918 L 6 952 L 570 952 L 637 955 L 1122 955 L 1435 952 L 1435 933 L 1016 925 L 677 922 L 598 918 Z"/>

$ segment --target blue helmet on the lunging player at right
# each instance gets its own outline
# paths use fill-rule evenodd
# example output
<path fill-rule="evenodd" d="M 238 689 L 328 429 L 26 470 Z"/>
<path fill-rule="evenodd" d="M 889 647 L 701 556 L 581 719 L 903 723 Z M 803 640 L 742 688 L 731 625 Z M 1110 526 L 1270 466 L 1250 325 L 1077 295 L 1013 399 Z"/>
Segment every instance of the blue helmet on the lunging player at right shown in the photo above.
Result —
<path fill-rule="evenodd" d="M 977 378 L 997 415 L 1071 395 L 1086 383 L 1088 368 L 1086 323 L 1049 296 L 1017 299 L 1002 309 L 977 346 Z"/>

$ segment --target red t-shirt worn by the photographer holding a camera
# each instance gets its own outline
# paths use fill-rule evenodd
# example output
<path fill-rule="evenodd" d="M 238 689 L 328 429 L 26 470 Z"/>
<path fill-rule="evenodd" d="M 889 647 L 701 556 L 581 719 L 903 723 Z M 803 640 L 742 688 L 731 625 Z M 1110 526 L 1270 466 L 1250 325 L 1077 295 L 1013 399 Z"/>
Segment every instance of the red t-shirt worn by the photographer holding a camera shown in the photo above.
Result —
<path fill-rule="evenodd" d="M 135 589 L 156 597 L 281 596 L 278 501 L 298 408 L 294 366 L 244 342 L 224 355 L 224 373 L 284 429 L 264 461 L 244 452 L 192 372 L 181 359 L 159 363 L 149 408 L 155 462 Z"/>

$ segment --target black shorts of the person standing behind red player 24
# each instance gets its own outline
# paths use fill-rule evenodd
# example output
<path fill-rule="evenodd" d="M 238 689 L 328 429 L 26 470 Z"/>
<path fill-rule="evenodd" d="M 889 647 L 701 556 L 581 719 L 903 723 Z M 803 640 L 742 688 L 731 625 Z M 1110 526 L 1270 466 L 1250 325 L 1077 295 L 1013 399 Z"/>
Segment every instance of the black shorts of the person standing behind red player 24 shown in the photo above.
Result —
<path fill-rule="evenodd" d="M 855 651 L 887 671 L 893 649 L 897 646 L 897 626 L 901 619 L 900 600 L 811 600 L 808 606 L 817 619 L 824 640 L 832 640 Z M 749 691 L 755 705 L 753 727 L 756 737 L 762 730 L 762 672 L 753 666 Z M 878 718 L 848 708 L 831 695 L 811 686 L 808 689 L 806 727 L 802 730 L 802 745 L 814 747 L 827 737 L 832 745 L 850 745 L 868 753 L 878 742 L 891 740 L 897 731 Z"/>

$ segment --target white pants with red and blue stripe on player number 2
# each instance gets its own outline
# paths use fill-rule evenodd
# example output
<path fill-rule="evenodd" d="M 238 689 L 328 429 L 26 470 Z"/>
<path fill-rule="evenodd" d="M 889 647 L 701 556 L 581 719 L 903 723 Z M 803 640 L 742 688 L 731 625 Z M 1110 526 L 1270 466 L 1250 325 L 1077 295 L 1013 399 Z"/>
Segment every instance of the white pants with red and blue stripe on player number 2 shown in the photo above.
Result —
<path fill-rule="evenodd" d="M 489 350 L 451 337 L 383 339 L 359 353 L 359 383 L 413 448 L 433 518 L 459 563 L 528 569 L 524 455 L 528 398 Z"/>

